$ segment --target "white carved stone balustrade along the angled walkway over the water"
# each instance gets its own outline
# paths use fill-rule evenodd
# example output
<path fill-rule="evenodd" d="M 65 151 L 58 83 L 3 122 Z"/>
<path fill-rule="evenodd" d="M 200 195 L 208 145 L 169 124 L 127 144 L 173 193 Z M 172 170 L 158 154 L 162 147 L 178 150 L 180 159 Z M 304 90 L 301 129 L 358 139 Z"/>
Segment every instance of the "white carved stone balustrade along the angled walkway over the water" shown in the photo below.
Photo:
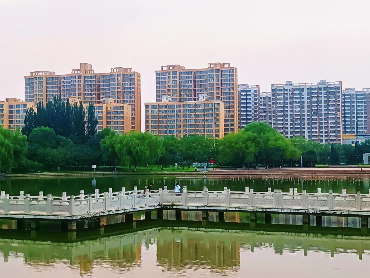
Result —
<path fill-rule="evenodd" d="M 10 196 L 1 191 L 0 195 L 0 216 L 1 215 L 65 215 L 83 216 L 96 214 L 97 212 L 117 212 L 148 210 L 153 207 L 173 207 L 186 206 L 196 208 L 199 206 L 210 209 L 239 208 L 245 210 L 265 211 L 316 211 L 316 212 L 342 212 L 358 213 L 363 215 L 370 214 L 370 190 L 369 194 L 347 194 L 346 189 L 342 193 L 322 193 L 317 189 L 317 193 L 307 193 L 305 190 L 297 192 L 297 188 L 290 188 L 289 192 L 281 190 L 267 192 L 255 192 L 253 189 L 245 188 L 245 191 L 230 191 L 224 188 L 223 191 L 208 191 L 205 187 L 203 191 L 187 191 L 184 187 L 182 193 L 175 193 L 167 189 L 167 186 L 160 188 L 159 191 L 145 193 L 134 187 L 132 191 L 99 193 L 95 189 L 94 194 L 67 196 L 63 192 L 62 196 L 44 196 L 41 191 L 38 196 L 30 196 L 20 192 L 18 196 Z"/>

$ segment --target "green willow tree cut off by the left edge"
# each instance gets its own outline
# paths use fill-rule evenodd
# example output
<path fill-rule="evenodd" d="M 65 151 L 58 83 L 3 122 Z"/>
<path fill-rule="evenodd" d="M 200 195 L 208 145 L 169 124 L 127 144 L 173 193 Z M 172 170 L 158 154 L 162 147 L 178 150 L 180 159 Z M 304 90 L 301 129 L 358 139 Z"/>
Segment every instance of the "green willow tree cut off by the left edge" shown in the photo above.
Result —
<path fill-rule="evenodd" d="M 26 136 L 0 126 L 0 172 L 10 173 L 12 168 L 22 166 L 26 152 Z"/>

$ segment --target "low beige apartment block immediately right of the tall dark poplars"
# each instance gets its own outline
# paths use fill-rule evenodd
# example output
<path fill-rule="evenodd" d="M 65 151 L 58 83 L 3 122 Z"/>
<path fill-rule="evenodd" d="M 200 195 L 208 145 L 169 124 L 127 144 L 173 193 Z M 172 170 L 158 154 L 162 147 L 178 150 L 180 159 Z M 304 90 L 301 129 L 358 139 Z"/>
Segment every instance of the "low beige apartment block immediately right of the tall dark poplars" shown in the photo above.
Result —
<path fill-rule="evenodd" d="M 80 100 L 71 97 L 69 102 L 73 105 L 74 103 L 78 104 Z M 84 104 L 86 113 L 87 106 L 88 104 Z M 125 103 L 115 103 L 114 99 L 107 97 L 102 99 L 100 103 L 94 103 L 94 107 L 95 116 L 98 119 L 98 132 L 105 128 L 110 128 L 119 134 L 126 133 L 131 130 L 130 105 Z M 87 117 L 88 115 L 86 115 L 86 119 Z"/>

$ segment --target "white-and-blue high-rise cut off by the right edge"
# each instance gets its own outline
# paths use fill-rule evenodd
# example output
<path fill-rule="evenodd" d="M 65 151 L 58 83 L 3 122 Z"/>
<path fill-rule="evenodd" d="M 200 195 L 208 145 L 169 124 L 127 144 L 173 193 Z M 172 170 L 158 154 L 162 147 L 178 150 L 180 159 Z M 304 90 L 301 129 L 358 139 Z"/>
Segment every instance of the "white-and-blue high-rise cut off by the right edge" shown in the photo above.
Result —
<path fill-rule="evenodd" d="M 342 92 L 343 134 L 370 133 L 370 88 Z"/>

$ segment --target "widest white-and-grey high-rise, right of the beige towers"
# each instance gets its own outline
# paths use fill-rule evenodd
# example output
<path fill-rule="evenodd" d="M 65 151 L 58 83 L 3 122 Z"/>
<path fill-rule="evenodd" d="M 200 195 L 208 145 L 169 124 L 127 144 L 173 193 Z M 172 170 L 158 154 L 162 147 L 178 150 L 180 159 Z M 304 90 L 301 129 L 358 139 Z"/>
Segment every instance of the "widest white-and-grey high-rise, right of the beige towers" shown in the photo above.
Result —
<path fill-rule="evenodd" d="M 342 143 L 342 82 L 271 85 L 272 127 L 287 138 Z"/>

